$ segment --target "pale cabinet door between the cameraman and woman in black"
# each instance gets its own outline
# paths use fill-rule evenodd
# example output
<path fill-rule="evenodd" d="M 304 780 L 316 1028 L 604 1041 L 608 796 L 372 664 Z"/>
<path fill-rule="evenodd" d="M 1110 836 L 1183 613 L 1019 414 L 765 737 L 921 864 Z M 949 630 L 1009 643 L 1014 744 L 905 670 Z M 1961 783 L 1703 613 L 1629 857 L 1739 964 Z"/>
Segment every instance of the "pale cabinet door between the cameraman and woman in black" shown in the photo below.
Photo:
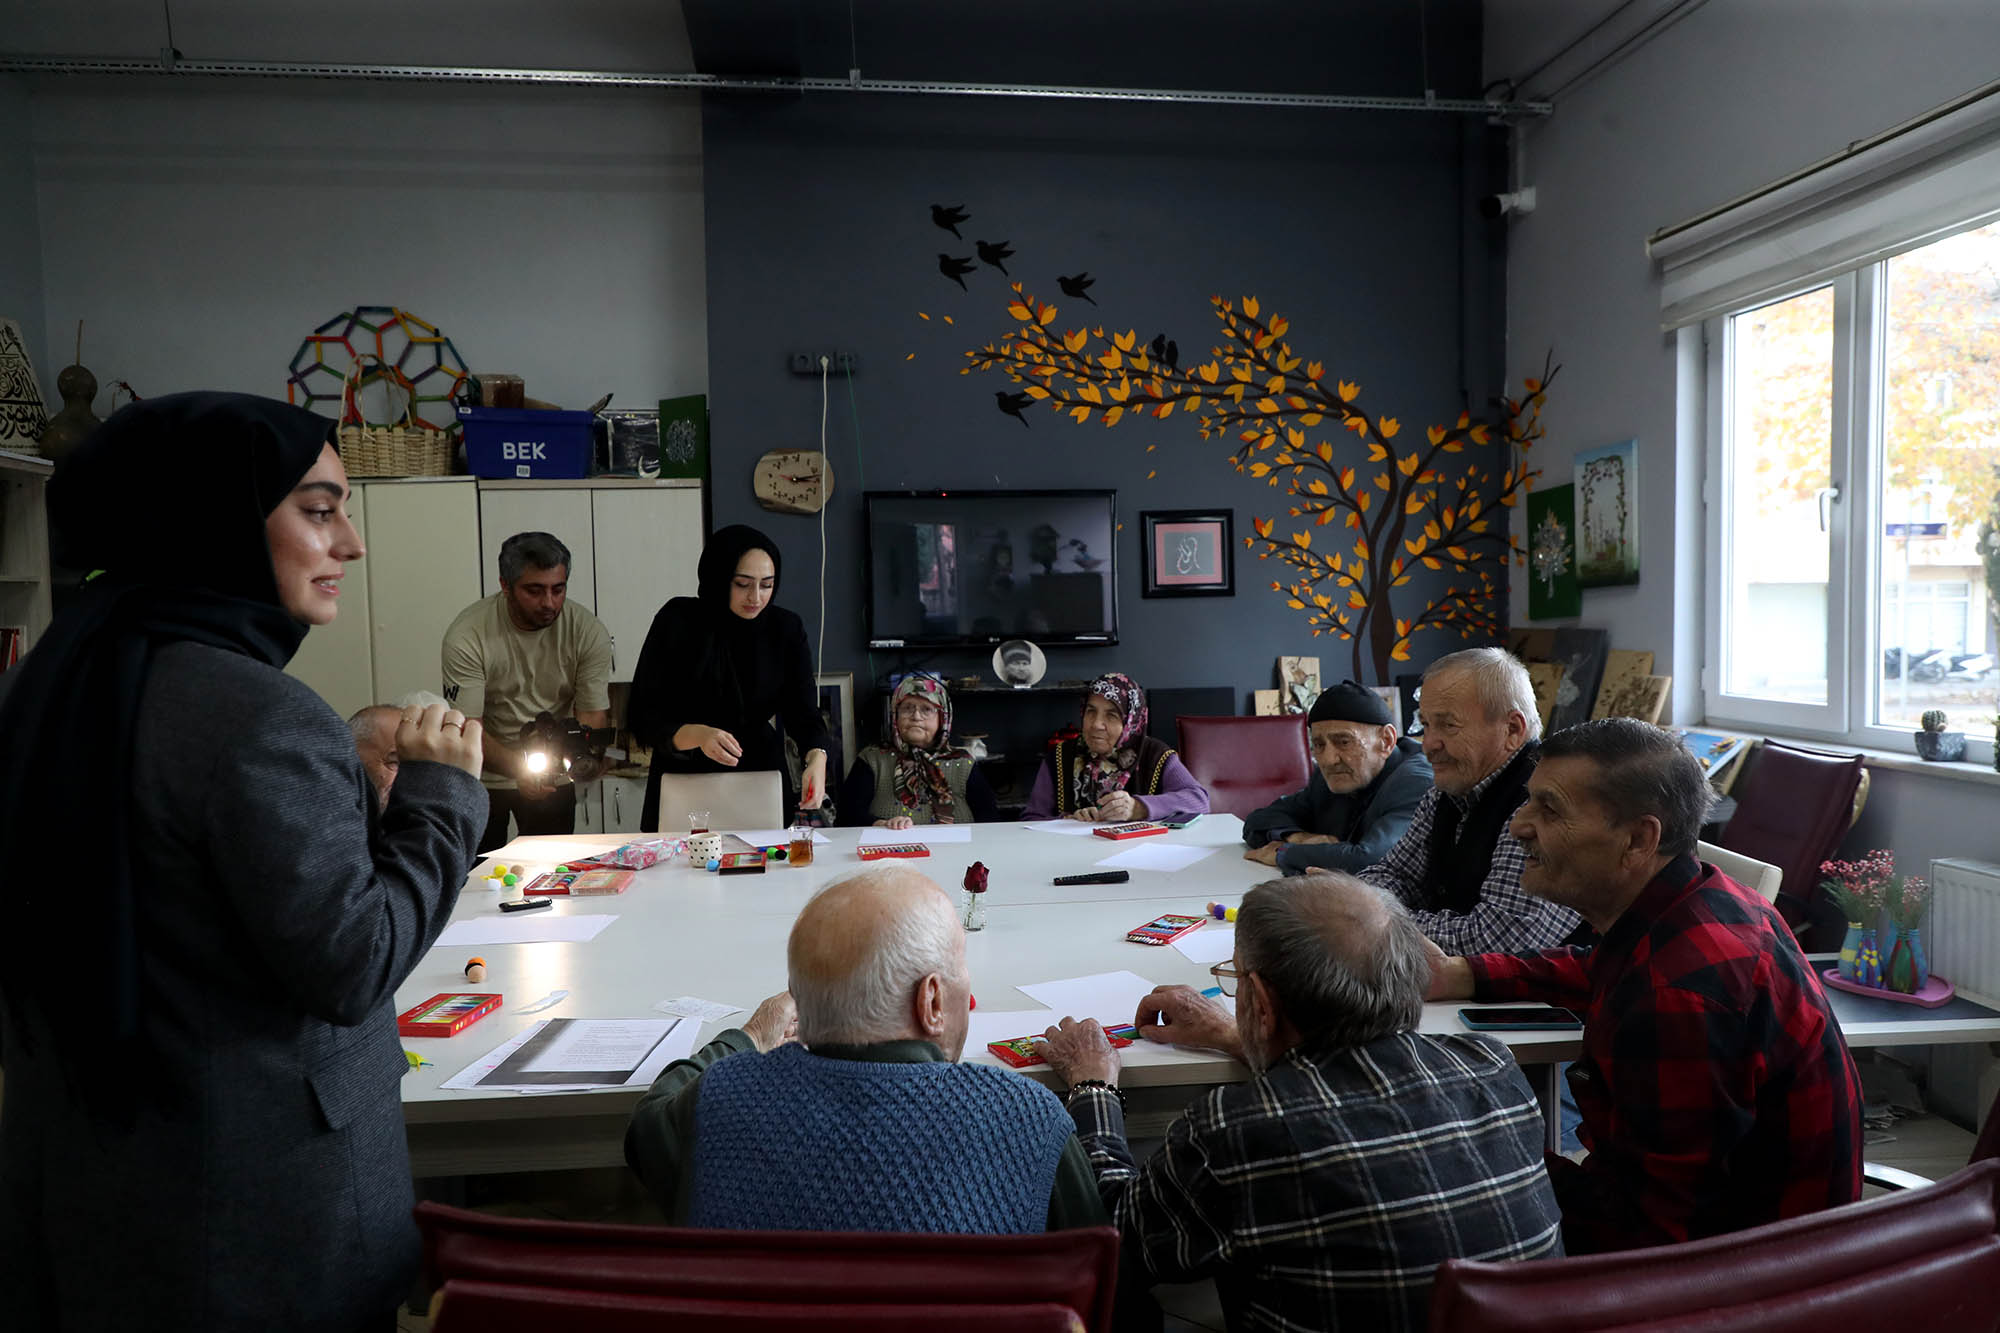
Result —
<path fill-rule="evenodd" d="M 672 596 L 694 596 L 702 558 L 698 486 L 592 490 L 598 618 L 612 632 L 612 681 L 630 681 L 652 616 Z"/>

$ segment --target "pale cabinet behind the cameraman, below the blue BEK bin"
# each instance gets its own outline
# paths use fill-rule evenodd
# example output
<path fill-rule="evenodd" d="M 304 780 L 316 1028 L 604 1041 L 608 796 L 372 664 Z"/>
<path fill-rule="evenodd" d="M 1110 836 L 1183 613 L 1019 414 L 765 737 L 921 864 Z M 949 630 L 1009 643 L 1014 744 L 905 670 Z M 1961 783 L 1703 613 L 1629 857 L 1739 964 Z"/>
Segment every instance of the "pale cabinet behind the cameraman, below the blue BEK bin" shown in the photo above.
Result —
<path fill-rule="evenodd" d="M 612 634 L 612 681 L 630 681 L 654 612 L 692 596 L 702 558 L 702 486 L 694 480 L 480 482 L 480 578 L 500 590 L 500 544 L 552 532 L 570 548 L 570 596 Z"/>

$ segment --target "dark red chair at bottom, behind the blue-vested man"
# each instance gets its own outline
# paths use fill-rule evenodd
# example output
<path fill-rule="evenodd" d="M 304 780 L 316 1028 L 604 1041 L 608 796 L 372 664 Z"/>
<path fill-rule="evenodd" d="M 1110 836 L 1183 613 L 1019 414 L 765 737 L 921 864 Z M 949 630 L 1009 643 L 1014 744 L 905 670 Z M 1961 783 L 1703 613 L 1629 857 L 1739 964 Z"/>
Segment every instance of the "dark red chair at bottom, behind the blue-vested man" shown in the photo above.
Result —
<path fill-rule="evenodd" d="M 700 1231 L 416 1205 L 438 1333 L 476 1329 L 1110 1329 L 1118 1231 Z M 550 1311 L 564 1311 L 550 1321 Z M 582 1311 L 590 1311 L 584 1321 Z M 602 1321 L 600 1321 L 602 1317 Z M 670 1323 L 662 1323 L 662 1317 Z"/>

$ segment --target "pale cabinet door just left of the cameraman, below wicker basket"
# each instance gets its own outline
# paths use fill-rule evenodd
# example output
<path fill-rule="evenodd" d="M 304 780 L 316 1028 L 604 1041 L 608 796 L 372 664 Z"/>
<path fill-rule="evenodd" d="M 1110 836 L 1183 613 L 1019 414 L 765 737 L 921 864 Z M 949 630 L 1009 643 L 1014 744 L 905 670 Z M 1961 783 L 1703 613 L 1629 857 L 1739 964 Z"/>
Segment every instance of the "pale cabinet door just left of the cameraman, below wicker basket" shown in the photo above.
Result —
<path fill-rule="evenodd" d="M 374 703 L 438 693 L 444 630 L 480 600 L 480 498 L 464 480 L 368 482 Z"/>

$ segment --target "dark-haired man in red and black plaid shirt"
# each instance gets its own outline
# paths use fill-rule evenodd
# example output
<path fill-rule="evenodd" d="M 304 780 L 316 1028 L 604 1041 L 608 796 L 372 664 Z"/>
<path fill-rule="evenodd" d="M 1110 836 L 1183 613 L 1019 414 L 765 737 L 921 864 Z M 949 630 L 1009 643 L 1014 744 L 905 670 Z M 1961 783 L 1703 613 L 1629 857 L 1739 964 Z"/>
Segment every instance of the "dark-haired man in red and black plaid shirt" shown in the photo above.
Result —
<path fill-rule="evenodd" d="M 1594 949 L 1432 955 L 1434 999 L 1584 1015 L 1570 1069 L 1590 1155 L 1550 1157 L 1570 1253 L 1664 1245 L 1852 1203 L 1854 1061 L 1798 941 L 1694 839 L 1712 793 L 1670 733 L 1560 731 L 1514 817 L 1522 883 L 1596 927 Z"/>

